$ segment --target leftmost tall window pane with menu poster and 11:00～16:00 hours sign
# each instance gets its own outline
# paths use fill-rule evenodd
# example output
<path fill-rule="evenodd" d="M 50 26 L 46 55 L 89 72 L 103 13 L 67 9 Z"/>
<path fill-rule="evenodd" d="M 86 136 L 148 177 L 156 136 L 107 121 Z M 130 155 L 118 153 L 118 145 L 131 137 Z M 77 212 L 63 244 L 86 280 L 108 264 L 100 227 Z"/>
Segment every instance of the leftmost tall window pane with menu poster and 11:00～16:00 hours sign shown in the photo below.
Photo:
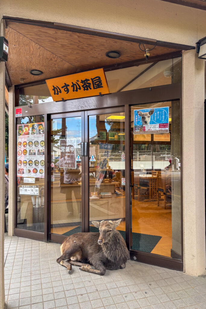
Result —
<path fill-rule="evenodd" d="M 44 233 L 44 115 L 18 117 L 17 227 Z"/>

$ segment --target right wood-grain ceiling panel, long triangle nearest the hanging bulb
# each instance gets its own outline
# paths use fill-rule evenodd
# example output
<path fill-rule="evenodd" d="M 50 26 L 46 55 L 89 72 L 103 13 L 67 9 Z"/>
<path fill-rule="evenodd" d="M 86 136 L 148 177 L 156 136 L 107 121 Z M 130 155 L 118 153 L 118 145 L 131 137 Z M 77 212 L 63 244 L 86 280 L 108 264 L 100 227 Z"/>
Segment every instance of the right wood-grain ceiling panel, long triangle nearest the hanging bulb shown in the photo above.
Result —
<path fill-rule="evenodd" d="M 52 28 L 39 27 L 23 23 L 8 22 L 9 27 L 18 31 L 23 36 L 44 47 L 48 51 L 61 57 L 80 70 L 91 70 L 115 63 L 132 61 L 144 58 L 144 52 L 139 49 L 139 44 L 111 38 L 93 36 L 77 32 L 69 32 Z M 153 45 L 146 45 L 152 48 Z M 117 50 L 120 58 L 110 59 L 105 53 Z M 150 56 L 170 53 L 177 49 L 156 46 Z"/>

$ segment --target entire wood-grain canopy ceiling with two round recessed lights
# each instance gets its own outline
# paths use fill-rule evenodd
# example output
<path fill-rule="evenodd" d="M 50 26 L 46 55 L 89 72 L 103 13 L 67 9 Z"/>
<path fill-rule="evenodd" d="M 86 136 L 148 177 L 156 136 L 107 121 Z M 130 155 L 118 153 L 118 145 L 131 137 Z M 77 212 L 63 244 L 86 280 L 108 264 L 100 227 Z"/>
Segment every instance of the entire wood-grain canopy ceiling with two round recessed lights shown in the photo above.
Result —
<path fill-rule="evenodd" d="M 129 64 L 134 60 L 142 60 L 142 63 L 145 63 L 144 52 L 139 49 L 138 41 L 49 28 L 46 25 L 42 27 L 11 20 L 6 21 L 6 26 L 5 36 L 10 48 L 6 69 L 13 85 L 19 84 L 20 78 L 24 79 L 24 83 L 30 83 L 99 67 L 119 67 L 123 63 Z M 150 44 L 145 44 L 145 47 L 150 49 L 156 41 L 148 40 L 148 42 Z M 105 54 L 109 50 L 119 51 L 120 58 L 106 57 Z M 179 53 L 180 50 L 179 46 L 171 48 L 157 44 L 150 52 L 149 58 L 153 60 L 160 55 Z M 43 74 L 33 76 L 29 73 L 32 69 L 41 70 Z"/>

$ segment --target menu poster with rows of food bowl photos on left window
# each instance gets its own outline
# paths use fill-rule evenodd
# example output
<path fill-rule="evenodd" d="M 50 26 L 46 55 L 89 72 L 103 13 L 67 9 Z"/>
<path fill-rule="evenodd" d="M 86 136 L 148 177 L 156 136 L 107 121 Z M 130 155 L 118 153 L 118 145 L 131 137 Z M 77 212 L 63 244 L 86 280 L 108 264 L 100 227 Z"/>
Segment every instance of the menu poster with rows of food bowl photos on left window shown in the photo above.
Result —
<path fill-rule="evenodd" d="M 44 122 L 17 125 L 17 177 L 44 178 Z"/>

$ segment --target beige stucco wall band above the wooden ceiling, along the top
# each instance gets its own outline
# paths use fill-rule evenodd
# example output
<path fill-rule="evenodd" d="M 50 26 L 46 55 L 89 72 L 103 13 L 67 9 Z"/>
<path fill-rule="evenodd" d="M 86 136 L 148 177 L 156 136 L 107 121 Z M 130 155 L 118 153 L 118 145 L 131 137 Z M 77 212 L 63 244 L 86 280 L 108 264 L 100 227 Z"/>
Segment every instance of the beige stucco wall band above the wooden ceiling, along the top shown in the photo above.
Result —
<path fill-rule="evenodd" d="M 160 0 L 1 0 L 0 12 L 187 45 L 205 36 L 206 11 Z"/>

